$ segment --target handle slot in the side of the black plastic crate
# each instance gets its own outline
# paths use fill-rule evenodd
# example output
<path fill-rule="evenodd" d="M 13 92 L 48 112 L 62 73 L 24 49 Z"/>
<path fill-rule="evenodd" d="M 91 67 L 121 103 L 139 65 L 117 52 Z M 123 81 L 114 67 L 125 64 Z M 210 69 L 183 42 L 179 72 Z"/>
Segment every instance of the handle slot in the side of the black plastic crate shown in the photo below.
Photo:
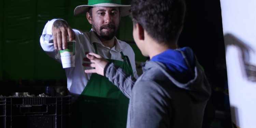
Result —
<path fill-rule="evenodd" d="M 23 114 L 27 113 L 47 113 L 48 106 L 47 105 L 20 105 L 19 112 Z"/>

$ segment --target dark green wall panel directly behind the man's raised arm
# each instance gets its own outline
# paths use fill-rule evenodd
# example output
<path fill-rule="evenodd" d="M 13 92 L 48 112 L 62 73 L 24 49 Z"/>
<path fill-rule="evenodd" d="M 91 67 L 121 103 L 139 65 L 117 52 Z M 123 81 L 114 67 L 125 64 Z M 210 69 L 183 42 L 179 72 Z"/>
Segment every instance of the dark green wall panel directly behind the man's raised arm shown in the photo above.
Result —
<path fill-rule="evenodd" d="M 53 18 L 68 19 L 69 3 L 70 0 L 37 0 L 36 27 L 34 30 L 36 35 L 34 43 L 35 80 L 66 79 L 65 70 L 62 68 L 61 63 L 49 57 L 41 48 L 40 36 L 48 20 Z"/>

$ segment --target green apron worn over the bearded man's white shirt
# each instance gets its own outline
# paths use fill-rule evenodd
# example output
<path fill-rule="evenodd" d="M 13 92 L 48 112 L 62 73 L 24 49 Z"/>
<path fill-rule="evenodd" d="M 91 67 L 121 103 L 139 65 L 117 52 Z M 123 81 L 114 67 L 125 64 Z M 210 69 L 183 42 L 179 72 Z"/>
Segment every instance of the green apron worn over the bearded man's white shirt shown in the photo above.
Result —
<path fill-rule="evenodd" d="M 98 54 L 95 43 L 93 45 Z M 129 58 L 120 53 L 124 61 L 108 60 L 133 76 Z M 112 82 L 93 73 L 72 105 L 72 128 L 125 128 L 128 104 L 129 99 Z"/>

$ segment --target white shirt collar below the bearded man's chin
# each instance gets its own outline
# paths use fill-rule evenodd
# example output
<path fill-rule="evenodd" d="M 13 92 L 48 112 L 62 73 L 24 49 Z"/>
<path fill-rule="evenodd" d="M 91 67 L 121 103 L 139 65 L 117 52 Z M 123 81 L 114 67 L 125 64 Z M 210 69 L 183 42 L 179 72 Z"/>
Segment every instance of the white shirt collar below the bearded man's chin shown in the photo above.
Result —
<path fill-rule="evenodd" d="M 90 30 L 90 43 L 99 43 L 100 45 L 102 45 L 103 47 L 106 47 L 102 44 L 102 42 L 100 41 L 100 39 L 97 37 L 97 35 L 94 33 L 93 29 Z M 117 40 L 117 38 L 115 37 L 115 45 L 114 47 L 111 48 L 112 50 L 116 51 L 116 52 L 121 52 L 122 51 L 122 47 L 120 45 L 119 40 Z"/>

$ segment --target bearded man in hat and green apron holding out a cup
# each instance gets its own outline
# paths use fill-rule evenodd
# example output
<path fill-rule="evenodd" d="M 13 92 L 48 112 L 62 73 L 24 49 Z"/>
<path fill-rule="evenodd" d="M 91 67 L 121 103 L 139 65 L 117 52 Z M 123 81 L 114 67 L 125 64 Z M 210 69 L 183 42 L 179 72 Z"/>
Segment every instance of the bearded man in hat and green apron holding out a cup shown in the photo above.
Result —
<path fill-rule="evenodd" d="M 105 77 L 85 73 L 89 67 L 83 66 L 83 62 L 87 52 L 94 52 L 138 77 L 132 48 L 115 37 L 120 17 L 128 15 L 129 10 L 130 5 L 122 5 L 120 0 L 88 0 L 88 5 L 75 8 L 74 15 L 86 14 L 91 31 L 72 29 L 62 19 L 52 19 L 45 25 L 40 43 L 57 61 L 61 61 L 58 50 L 67 48 L 67 38 L 76 41 L 75 67 L 65 68 L 67 86 L 74 101 L 71 119 L 74 128 L 126 126 L 129 99 Z"/>

